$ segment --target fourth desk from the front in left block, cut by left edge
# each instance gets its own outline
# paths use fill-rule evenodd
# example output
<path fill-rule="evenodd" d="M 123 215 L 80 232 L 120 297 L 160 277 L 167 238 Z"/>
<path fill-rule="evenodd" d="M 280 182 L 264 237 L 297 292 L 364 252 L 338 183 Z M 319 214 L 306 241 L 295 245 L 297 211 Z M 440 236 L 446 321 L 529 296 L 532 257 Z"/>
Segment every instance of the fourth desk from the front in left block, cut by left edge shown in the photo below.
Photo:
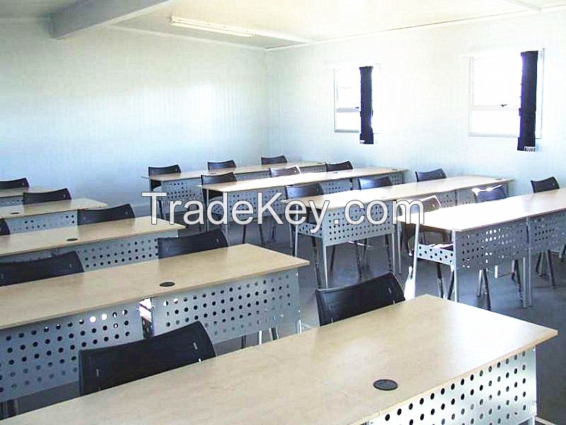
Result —
<path fill-rule="evenodd" d="M 10 205 L 0 207 L 0 218 L 6 220 L 11 233 L 33 232 L 76 225 L 77 211 L 106 206 L 98 200 L 86 198 Z"/>

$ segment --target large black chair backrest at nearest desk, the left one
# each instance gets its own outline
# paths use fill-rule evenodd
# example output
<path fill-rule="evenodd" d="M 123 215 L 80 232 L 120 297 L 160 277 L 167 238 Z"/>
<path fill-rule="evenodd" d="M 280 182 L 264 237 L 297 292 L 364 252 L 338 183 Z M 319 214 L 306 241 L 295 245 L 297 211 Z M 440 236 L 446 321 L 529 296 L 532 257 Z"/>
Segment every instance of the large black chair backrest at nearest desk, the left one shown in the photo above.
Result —
<path fill-rule="evenodd" d="M 79 351 L 81 395 L 216 356 L 201 322 L 129 344 Z"/>

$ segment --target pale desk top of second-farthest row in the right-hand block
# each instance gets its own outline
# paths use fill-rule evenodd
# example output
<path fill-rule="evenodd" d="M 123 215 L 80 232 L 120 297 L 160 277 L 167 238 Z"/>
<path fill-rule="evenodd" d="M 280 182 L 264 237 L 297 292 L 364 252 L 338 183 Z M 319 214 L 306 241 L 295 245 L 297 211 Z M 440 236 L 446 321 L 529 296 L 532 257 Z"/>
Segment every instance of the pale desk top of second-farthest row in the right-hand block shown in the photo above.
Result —
<path fill-rule="evenodd" d="M 321 181 L 355 179 L 364 176 L 380 176 L 383 174 L 400 173 L 405 169 L 391 169 L 383 167 L 358 168 L 353 170 L 330 171 L 323 173 L 302 173 L 294 176 L 266 177 L 265 179 L 253 179 L 236 181 L 233 183 L 207 184 L 205 189 L 224 193 L 257 191 L 267 188 L 278 188 L 291 184 L 318 183 Z"/>

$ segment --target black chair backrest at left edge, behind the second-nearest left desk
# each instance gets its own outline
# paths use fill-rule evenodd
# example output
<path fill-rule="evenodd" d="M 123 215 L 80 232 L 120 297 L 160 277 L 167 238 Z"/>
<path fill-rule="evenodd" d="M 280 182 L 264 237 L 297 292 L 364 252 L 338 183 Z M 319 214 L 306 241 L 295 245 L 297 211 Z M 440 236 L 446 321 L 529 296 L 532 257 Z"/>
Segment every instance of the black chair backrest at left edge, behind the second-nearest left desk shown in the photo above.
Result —
<path fill-rule="evenodd" d="M 0 286 L 82 272 L 81 259 L 75 251 L 48 259 L 0 263 Z"/>

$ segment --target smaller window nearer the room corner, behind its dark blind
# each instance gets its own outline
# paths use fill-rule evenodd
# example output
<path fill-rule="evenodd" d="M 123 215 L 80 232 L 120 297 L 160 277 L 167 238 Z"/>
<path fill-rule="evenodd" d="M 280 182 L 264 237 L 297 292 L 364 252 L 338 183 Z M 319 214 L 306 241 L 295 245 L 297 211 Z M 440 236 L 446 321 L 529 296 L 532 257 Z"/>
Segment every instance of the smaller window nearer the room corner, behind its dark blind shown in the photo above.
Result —
<path fill-rule="evenodd" d="M 371 73 L 372 99 L 374 102 L 374 115 L 371 127 L 374 133 L 378 131 L 379 99 L 381 98 L 379 77 L 379 65 L 374 65 Z M 361 82 L 359 68 L 345 68 L 334 70 L 334 131 L 335 132 L 360 132 L 361 120 L 360 110 Z"/>

